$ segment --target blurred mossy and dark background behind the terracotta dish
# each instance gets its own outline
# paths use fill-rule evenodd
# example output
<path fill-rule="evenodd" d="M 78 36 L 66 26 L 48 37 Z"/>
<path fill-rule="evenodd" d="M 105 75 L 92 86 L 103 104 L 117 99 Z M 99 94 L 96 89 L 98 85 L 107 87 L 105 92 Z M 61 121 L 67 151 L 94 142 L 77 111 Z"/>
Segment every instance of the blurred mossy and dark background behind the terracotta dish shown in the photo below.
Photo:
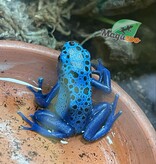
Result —
<path fill-rule="evenodd" d="M 61 50 L 83 42 L 92 59 L 102 58 L 156 128 L 156 0 L 0 0 L 0 39 Z M 142 23 L 139 44 L 99 35 L 120 19 Z"/>

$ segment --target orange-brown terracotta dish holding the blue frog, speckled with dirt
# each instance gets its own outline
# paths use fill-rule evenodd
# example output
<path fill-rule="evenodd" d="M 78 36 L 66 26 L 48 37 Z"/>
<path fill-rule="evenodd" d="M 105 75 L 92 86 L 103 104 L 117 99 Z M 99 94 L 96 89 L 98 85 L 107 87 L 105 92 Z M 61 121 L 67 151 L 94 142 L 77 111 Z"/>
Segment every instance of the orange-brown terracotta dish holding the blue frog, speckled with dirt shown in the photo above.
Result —
<path fill-rule="evenodd" d="M 22 42 L 0 41 L 0 77 L 24 80 L 31 84 L 42 76 L 45 92 L 56 82 L 59 52 Z M 19 84 L 0 81 L 0 163 L 156 163 L 156 133 L 138 107 L 115 82 L 113 92 L 103 96 L 94 92 L 95 101 L 111 102 L 114 94 L 123 110 L 112 130 L 101 140 L 87 143 L 82 136 L 68 139 L 68 144 L 53 142 L 35 132 L 21 130 L 27 125 L 16 113 L 34 113 L 33 94 Z"/>

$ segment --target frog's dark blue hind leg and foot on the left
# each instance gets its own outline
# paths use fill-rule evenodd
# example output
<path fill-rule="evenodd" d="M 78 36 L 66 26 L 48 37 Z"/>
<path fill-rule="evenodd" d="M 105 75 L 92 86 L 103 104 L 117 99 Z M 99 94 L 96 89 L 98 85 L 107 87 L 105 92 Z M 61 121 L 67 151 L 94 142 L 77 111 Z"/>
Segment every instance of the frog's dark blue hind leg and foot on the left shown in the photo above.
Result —
<path fill-rule="evenodd" d="M 33 121 L 30 121 L 20 111 L 17 112 L 30 127 L 21 126 L 24 130 L 31 130 L 48 138 L 63 139 L 74 134 L 72 127 L 54 113 L 48 110 L 37 110 L 34 115 L 30 115 Z"/>

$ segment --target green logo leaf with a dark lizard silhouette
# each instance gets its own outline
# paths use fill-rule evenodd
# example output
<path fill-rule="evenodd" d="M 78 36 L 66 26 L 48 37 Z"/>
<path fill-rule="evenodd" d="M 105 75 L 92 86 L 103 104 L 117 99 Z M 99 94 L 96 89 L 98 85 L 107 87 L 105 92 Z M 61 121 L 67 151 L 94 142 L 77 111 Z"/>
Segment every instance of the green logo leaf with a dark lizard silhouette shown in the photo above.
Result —
<path fill-rule="evenodd" d="M 121 19 L 113 25 L 112 32 L 134 37 L 140 25 L 140 22 L 134 20 Z"/>

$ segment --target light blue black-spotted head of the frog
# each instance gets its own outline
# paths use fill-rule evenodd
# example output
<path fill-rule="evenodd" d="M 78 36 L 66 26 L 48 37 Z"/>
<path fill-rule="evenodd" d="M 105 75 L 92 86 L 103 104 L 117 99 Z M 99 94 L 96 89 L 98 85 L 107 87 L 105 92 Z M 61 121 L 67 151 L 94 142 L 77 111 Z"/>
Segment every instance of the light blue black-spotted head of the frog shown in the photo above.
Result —
<path fill-rule="evenodd" d="M 90 67 L 90 53 L 74 41 L 66 42 L 58 57 L 58 67 L 63 72 L 69 68 L 76 71 L 88 70 Z"/>

